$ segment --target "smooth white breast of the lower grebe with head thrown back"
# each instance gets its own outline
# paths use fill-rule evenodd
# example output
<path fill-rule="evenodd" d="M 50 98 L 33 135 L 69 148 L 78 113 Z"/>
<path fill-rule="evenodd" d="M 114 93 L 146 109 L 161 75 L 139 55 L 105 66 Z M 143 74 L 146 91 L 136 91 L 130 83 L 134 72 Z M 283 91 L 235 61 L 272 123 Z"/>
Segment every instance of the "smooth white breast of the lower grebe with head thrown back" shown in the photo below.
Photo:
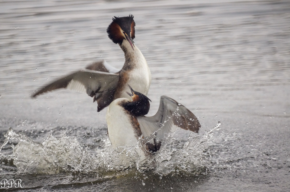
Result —
<path fill-rule="evenodd" d="M 138 139 L 131 124 L 131 117 L 118 103 L 126 101 L 126 98 L 115 99 L 109 105 L 106 113 L 108 134 L 114 148 L 119 146 L 134 146 Z"/>

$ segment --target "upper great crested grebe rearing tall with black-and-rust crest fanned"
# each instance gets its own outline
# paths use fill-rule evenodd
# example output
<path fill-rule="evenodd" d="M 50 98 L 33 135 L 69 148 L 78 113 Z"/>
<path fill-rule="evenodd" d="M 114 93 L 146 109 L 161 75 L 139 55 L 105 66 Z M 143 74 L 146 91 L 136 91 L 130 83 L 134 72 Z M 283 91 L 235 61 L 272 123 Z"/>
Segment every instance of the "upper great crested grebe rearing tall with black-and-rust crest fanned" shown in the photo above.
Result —
<path fill-rule="evenodd" d="M 121 70 L 108 65 L 105 61 L 99 61 L 85 69 L 57 79 L 52 83 L 41 87 L 32 97 L 44 92 L 59 88 L 68 88 L 78 92 L 84 92 L 97 101 L 97 111 L 101 111 L 114 99 L 130 98 L 128 84 L 134 90 L 145 95 L 151 84 L 151 72 L 141 51 L 134 44 L 135 21 L 134 16 L 114 17 L 107 28 L 108 37 L 119 44 L 125 54 L 125 63 Z"/>

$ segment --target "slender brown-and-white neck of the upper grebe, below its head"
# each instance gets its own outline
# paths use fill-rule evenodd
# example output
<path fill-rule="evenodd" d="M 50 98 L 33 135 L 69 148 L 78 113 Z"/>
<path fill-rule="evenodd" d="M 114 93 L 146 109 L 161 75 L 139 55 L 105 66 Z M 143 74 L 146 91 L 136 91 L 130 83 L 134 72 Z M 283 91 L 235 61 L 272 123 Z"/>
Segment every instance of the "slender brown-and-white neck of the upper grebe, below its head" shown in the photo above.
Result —
<path fill-rule="evenodd" d="M 125 64 L 122 70 L 133 69 L 138 67 L 138 65 L 147 65 L 145 57 L 136 45 L 133 46 L 134 49 L 132 49 L 129 42 L 124 39 L 120 47 L 125 54 Z"/>

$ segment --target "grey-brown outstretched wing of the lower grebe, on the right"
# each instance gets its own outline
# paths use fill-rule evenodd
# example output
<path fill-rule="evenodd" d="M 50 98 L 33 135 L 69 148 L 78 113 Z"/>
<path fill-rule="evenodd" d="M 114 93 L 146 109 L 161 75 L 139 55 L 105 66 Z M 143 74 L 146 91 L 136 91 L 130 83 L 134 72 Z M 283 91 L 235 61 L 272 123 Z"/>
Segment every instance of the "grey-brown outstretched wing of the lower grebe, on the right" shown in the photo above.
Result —
<path fill-rule="evenodd" d="M 157 113 L 152 117 L 137 117 L 144 137 L 156 131 L 156 136 L 164 138 L 166 133 L 174 132 L 176 127 L 195 133 L 200 123 L 189 109 L 170 97 L 161 96 Z"/>

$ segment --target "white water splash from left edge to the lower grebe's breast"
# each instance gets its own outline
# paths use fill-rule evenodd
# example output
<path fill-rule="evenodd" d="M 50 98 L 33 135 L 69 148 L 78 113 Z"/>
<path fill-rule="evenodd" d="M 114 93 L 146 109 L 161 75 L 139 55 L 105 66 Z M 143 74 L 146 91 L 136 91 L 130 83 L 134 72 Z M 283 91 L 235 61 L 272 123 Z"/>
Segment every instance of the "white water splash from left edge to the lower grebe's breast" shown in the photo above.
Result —
<path fill-rule="evenodd" d="M 76 138 L 62 135 L 56 138 L 48 135 L 42 143 L 37 143 L 25 134 L 16 133 L 9 128 L 4 134 L 6 139 L 2 149 L 9 140 L 18 140 L 13 148 L 12 159 L 19 172 L 39 174 L 58 174 L 60 172 L 103 173 L 124 170 L 135 166 L 139 161 L 138 146 L 113 149 L 109 139 L 105 146 L 89 151 L 80 145 Z M 1 150 L 0 150 L 1 152 Z M 124 155 L 130 159 L 124 165 Z"/>

